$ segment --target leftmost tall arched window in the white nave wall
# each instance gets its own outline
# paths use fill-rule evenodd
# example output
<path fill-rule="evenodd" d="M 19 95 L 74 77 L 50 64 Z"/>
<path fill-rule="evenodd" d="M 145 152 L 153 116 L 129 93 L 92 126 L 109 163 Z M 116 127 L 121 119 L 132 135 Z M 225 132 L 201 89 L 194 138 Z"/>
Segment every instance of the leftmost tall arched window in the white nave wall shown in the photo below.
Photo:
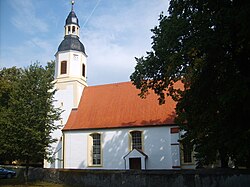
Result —
<path fill-rule="evenodd" d="M 101 134 L 94 133 L 90 135 L 90 165 L 101 165 Z"/>

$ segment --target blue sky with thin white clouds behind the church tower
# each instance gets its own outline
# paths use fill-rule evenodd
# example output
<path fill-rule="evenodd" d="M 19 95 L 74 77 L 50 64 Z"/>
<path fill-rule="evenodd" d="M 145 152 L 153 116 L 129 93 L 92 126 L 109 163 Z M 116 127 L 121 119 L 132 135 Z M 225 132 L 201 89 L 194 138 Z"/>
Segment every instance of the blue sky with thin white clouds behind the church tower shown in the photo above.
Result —
<path fill-rule="evenodd" d="M 129 81 L 168 6 L 169 0 L 75 0 L 88 85 Z M 55 60 L 70 11 L 70 0 L 0 0 L 0 68 Z"/>

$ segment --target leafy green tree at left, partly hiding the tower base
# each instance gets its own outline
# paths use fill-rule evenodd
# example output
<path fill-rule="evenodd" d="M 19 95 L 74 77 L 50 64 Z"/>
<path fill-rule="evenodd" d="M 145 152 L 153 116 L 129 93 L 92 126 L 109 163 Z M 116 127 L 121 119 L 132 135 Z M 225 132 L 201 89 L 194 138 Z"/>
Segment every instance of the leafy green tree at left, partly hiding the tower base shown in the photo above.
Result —
<path fill-rule="evenodd" d="M 4 126 L 5 156 L 26 164 L 37 163 L 51 155 L 51 132 L 58 127 L 60 109 L 53 106 L 54 62 L 44 68 L 39 63 L 21 69 L 15 86 L 7 94 L 8 116 Z M 3 98 L 5 101 L 5 98 Z M 6 122 L 7 121 L 7 122 Z M 1 147 L 2 148 L 2 147 Z"/>

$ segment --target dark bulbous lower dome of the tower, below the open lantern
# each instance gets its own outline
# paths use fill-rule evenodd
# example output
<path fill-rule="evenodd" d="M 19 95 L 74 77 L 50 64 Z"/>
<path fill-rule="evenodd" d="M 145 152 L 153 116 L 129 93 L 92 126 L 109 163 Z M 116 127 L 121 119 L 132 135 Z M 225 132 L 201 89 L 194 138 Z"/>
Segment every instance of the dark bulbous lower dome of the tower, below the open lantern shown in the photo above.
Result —
<path fill-rule="evenodd" d="M 75 36 L 75 35 L 66 35 L 64 37 L 64 40 L 61 42 L 61 44 L 58 47 L 58 52 L 68 51 L 68 50 L 80 51 L 85 54 L 85 48 L 83 44 L 80 42 L 78 36 Z"/>

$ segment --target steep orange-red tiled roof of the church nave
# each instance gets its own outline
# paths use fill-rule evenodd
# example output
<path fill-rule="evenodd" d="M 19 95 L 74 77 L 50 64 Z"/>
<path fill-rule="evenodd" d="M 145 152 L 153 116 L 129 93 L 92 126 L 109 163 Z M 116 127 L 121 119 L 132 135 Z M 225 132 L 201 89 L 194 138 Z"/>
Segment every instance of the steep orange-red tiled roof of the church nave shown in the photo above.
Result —
<path fill-rule="evenodd" d="M 78 109 L 71 111 L 63 130 L 174 124 L 176 103 L 170 97 L 159 105 L 153 92 L 146 99 L 141 99 L 139 93 L 131 82 L 86 87 Z"/>

